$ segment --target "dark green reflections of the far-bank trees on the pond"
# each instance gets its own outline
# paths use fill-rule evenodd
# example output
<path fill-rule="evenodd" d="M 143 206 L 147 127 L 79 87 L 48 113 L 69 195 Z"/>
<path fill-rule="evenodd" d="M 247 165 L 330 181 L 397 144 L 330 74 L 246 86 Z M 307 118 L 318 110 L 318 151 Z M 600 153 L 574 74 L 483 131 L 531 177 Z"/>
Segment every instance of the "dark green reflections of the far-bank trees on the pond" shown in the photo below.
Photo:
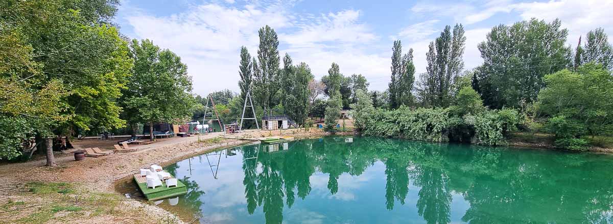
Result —
<path fill-rule="evenodd" d="M 612 222 L 613 177 L 604 172 L 613 165 L 610 157 L 376 137 L 287 145 L 290 150 L 242 147 L 246 209 L 254 214 L 261 207 L 266 223 L 282 223 L 284 207 L 291 209 L 296 196 L 308 200 L 311 176 L 327 174 L 335 195 L 341 175 L 362 175 L 378 162 L 386 179 L 380 206 L 393 211 L 409 203 L 427 223 L 451 222 L 453 194 L 470 205 L 460 215 L 468 223 Z M 406 199 L 412 186 L 419 189 L 414 201 Z"/>

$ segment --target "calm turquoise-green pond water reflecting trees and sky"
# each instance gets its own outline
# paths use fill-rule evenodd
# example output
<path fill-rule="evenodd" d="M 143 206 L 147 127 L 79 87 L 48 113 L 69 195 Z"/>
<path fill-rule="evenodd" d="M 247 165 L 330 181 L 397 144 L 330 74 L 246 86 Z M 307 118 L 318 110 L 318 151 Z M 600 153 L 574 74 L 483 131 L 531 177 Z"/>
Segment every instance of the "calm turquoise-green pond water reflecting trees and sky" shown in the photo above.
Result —
<path fill-rule="evenodd" d="M 613 156 L 324 137 L 166 167 L 202 223 L 613 223 Z"/>

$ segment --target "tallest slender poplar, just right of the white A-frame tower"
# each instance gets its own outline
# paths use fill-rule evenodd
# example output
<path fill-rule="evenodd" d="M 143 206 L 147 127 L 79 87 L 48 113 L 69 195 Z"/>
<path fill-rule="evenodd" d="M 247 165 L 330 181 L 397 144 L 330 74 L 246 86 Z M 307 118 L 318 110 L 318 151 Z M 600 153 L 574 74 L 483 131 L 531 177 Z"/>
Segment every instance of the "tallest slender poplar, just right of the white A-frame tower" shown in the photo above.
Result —
<path fill-rule="evenodd" d="M 260 43 L 257 49 L 257 63 L 253 64 L 254 95 L 264 109 L 270 114 L 275 106 L 274 99 L 280 89 L 279 40 L 274 29 L 264 26 L 259 29 Z"/>

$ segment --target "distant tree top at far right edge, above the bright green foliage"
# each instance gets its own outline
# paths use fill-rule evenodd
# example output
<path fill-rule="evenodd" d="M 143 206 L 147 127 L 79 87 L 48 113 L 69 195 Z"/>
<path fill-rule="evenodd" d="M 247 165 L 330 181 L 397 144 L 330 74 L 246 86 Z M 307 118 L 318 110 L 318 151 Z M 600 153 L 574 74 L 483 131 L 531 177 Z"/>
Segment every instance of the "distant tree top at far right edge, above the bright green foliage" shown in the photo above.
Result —
<path fill-rule="evenodd" d="M 579 39 L 581 45 L 581 38 Z M 579 48 L 579 46 L 577 46 Z M 581 52 L 581 63 L 595 62 L 606 70 L 613 70 L 613 46 L 603 28 L 587 33 L 587 41 Z"/>

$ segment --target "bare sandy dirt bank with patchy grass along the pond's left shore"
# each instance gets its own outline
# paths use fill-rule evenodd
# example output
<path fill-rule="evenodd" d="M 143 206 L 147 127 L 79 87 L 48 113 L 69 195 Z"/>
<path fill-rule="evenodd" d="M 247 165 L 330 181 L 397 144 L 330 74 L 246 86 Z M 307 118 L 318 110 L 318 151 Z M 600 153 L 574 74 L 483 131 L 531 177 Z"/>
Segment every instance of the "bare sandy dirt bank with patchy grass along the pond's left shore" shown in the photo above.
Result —
<path fill-rule="evenodd" d="M 304 131 L 249 131 L 227 137 L 270 135 L 308 137 L 323 135 L 319 129 Z M 72 153 L 55 153 L 57 167 L 44 167 L 45 158 L 0 165 L 0 223 L 186 223 L 172 212 L 115 192 L 115 181 L 151 164 L 167 165 L 180 158 L 248 143 L 223 139 L 220 133 L 161 139 L 134 145 L 137 151 L 74 161 Z M 113 148 L 118 139 L 77 140 L 75 148 Z M 110 145 L 110 146 L 109 146 Z"/>

